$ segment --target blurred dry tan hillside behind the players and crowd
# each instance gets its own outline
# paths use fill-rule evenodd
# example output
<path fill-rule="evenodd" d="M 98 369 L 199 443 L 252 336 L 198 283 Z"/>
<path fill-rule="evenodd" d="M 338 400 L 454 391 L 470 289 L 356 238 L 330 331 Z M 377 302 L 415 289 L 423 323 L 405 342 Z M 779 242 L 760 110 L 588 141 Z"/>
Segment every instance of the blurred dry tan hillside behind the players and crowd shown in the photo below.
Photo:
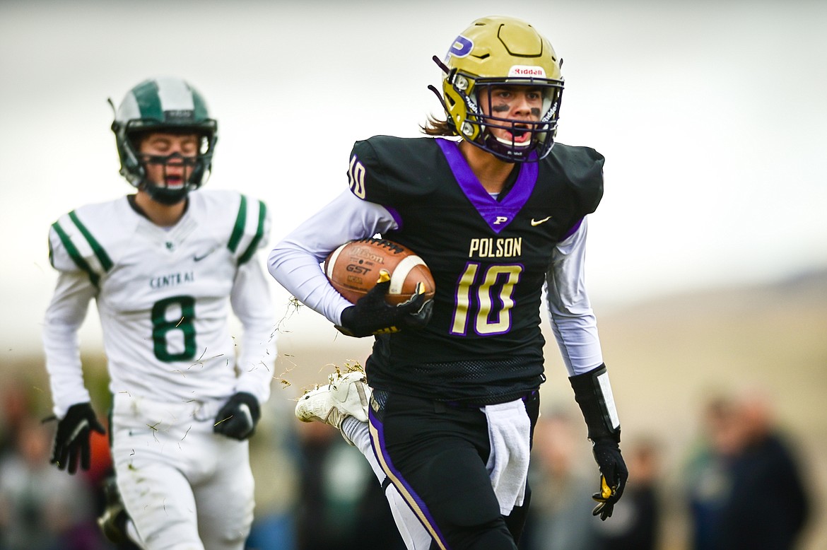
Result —
<path fill-rule="evenodd" d="M 819 496 L 827 495 L 827 272 L 663 297 L 607 313 L 600 312 L 600 304 L 595 309 L 624 442 L 660 442 L 665 483 L 676 483 L 706 397 L 746 387 L 766 390 L 778 423 L 798 445 L 813 490 L 816 506 L 805 548 L 827 548 L 827 502 Z M 566 371 L 551 332 L 546 333 L 544 407 L 572 406 Z M 369 344 L 320 325 L 306 308 L 288 308 L 280 323 L 274 382 L 273 399 L 284 405 L 278 409 L 289 414 L 289 402 L 304 387 L 323 382 L 333 364 L 364 361 Z M 48 414 L 41 356 L 4 352 L 3 380 L 22 380 L 37 397 L 37 414 Z M 105 399 L 100 397 L 106 394 L 103 358 L 95 351 L 84 357 L 93 393 Z M 680 539 L 680 522 L 676 526 L 673 538 Z M 682 546 L 673 541 L 668 548 Z"/>

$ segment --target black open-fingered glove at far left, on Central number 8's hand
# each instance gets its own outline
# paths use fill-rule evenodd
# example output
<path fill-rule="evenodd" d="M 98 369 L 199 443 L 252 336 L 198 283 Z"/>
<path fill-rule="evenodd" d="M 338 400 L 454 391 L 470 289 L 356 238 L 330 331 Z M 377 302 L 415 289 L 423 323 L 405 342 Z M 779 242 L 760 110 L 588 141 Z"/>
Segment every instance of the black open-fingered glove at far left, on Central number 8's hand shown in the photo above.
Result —
<path fill-rule="evenodd" d="M 89 433 L 92 430 L 100 434 L 106 433 L 106 429 L 98 422 L 92 405 L 76 403 L 69 407 L 65 416 L 57 422 L 50 462 L 57 464 L 60 470 L 69 466 L 70 474 L 78 471 L 78 462 L 81 468 L 88 470 L 92 462 L 92 452 L 89 449 Z"/>

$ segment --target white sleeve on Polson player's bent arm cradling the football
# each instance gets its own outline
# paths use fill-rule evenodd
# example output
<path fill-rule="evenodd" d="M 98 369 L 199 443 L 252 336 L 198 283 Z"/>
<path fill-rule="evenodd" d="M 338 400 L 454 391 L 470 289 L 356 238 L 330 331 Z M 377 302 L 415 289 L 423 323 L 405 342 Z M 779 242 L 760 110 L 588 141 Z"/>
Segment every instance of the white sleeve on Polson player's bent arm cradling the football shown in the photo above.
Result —
<path fill-rule="evenodd" d="M 345 242 L 373 237 L 396 227 L 387 208 L 356 198 L 347 190 L 270 251 L 270 275 L 299 302 L 338 324 L 342 310 L 352 304 L 330 285 L 320 264 Z"/>

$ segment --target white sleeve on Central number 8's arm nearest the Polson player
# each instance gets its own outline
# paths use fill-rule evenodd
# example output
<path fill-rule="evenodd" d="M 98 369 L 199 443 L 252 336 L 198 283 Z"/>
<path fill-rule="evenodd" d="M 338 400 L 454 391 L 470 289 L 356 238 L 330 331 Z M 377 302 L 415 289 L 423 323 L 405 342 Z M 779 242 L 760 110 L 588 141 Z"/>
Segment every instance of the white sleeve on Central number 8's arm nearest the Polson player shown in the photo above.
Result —
<path fill-rule="evenodd" d="M 270 287 L 257 254 L 238 268 L 230 293 L 230 304 L 244 327 L 236 391 L 255 395 L 259 403 L 263 404 L 270 399 L 276 342 Z"/>

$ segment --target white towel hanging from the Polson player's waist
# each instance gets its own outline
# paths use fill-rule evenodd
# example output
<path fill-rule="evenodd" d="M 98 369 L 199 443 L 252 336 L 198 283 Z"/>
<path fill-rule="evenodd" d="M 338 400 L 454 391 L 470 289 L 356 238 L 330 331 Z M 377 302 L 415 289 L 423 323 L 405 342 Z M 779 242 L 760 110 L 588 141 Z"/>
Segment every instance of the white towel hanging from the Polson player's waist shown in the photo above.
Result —
<path fill-rule="evenodd" d="M 491 486 L 500 502 L 500 514 L 511 514 L 514 506 L 523 505 L 528 479 L 528 453 L 531 420 L 523 399 L 482 408 L 488 418 L 491 453 L 485 467 Z"/>

